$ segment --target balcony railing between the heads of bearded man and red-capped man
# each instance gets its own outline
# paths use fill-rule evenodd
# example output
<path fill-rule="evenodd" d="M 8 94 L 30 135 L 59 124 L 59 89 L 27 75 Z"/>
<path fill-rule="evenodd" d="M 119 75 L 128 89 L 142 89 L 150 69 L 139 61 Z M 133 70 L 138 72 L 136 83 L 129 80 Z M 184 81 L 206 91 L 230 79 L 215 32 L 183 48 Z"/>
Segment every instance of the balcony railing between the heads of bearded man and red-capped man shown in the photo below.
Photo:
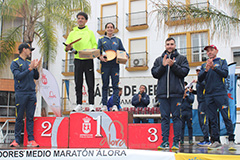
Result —
<path fill-rule="evenodd" d="M 187 53 L 191 53 L 191 62 L 204 62 L 207 60 L 207 53 L 204 50 L 205 46 L 177 48 L 178 52 L 187 57 Z"/>

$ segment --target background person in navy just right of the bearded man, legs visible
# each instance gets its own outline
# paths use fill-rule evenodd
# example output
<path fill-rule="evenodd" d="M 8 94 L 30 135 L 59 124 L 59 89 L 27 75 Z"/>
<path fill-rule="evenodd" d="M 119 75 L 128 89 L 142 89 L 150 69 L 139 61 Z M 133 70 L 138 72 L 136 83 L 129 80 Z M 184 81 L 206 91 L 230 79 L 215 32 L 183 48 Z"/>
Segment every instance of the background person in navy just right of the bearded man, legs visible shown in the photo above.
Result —
<path fill-rule="evenodd" d="M 186 86 L 187 82 L 185 82 L 185 87 Z M 181 104 L 181 120 L 182 120 L 181 144 L 184 143 L 185 122 L 187 122 L 188 126 L 189 144 L 193 144 L 192 103 L 194 102 L 194 95 L 189 90 L 191 90 L 191 88 L 185 88 L 185 93 Z"/>

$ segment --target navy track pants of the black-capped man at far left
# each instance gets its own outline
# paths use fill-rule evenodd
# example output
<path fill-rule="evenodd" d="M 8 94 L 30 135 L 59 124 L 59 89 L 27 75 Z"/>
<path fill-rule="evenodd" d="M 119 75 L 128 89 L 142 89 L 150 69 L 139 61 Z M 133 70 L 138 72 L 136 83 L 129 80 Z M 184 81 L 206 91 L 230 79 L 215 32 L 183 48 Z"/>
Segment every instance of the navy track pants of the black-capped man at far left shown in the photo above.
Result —
<path fill-rule="evenodd" d="M 33 117 L 36 108 L 36 94 L 35 93 L 15 93 L 17 118 L 15 123 L 15 140 L 18 144 L 21 142 L 21 132 L 23 128 L 23 115 L 26 110 L 26 128 L 28 133 L 28 141 L 34 140 L 33 137 Z"/>

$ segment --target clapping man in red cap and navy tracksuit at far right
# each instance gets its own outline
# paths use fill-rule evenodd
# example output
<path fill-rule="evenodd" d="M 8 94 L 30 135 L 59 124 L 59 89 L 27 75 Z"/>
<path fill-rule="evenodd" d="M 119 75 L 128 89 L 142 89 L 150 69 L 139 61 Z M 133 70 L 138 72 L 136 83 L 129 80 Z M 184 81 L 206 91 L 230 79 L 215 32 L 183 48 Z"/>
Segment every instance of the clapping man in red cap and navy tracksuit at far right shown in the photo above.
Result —
<path fill-rule="evenodd" d="M 235 150 L 233 124 L 229 114 L 228 95 L 226 85 L 223 82 L 223 78 L 227 78 L 228 76 L 227 61 L 217 57 L 218 50 L 214 45 L 206 46 L 204 50 L 207 51 L 209 59 L 207 60 L 207 63 L 202 64 L 198 81 L 203 82 L 205 80 L 207 116 L 210 119 L 213 139 L 213 144 L 209 147 L 209 149 L 221 146 L 219 143 L 220 133 L 217 111 L 219 110 L 225 122 L 227 134 L 229 135 L 229 150 Z"/>

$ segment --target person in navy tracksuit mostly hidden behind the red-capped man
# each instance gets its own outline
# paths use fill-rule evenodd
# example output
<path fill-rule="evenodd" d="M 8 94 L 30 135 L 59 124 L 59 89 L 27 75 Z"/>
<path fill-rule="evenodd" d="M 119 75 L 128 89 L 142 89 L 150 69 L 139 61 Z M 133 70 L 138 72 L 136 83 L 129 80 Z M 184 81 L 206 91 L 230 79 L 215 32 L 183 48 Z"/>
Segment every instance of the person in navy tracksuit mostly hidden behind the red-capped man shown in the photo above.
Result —
<path fill-rule="evenodd" d="M 201 70 L 201 66 L 196 68 L 197 76 L 199 75 Z M 198 101 L 198 120 L 201 130 L 203 132 L 204 141 L 198 143 L 198 146 L 210 146 L 211 142 L 209 141 L 209 123 L 208 117 L 206 114 L 206 103 L 205 103 L 205 81 L 199 82 L 197 81 L 196 84 L 196 94 L 197 94 L 197 101 Z"/>

